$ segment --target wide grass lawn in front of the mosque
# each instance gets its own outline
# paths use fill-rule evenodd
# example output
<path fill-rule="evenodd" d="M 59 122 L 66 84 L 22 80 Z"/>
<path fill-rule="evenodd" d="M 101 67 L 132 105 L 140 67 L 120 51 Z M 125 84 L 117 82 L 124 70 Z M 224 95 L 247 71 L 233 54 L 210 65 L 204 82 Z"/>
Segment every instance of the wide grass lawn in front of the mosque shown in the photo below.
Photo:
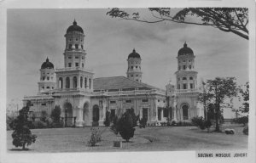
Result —
<path fill-rule="evenodd" d="M 22 152 L 109 152 L 109 151 L 175 151 L 203 149 L 247 149 L 248 137 L 242 133 L 243 126 L 224 126 L 233 128 L 234 135 L 201 131 L 195 126 L 148 126 L 136 128 L 130 143 L 123 143 L 123 148 L 113 147 L 113 140 L 120 140 L 109 127 L 100 126 L 102 142 L 96 147 L 89 147 L 90 127 L 33 129 L 38 136 L 36 143 Z M 12 144 L 12 131 L 7 132 L 7 148 L 9 152 L 17 152 Z M 19 151 L 20 152 L 20 151 Z"/>

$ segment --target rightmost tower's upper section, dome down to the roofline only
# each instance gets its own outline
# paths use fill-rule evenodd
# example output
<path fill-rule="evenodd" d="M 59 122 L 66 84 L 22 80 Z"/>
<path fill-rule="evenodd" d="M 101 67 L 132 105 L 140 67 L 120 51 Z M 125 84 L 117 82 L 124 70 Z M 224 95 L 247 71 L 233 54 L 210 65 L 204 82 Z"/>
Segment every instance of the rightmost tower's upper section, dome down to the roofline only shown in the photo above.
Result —
<path fill-rule="evenodd" d="M 195 71 L 195 55 L 185 42 L 177 55 L 177 90 L 195 90 L 197 88 L 197 71 Z"/>

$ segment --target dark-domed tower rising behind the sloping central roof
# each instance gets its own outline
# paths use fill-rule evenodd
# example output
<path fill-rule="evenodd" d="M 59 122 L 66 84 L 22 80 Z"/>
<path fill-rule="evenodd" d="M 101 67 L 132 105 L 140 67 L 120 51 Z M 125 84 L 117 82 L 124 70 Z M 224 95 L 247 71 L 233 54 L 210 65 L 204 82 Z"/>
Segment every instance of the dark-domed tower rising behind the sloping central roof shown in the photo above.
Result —
<path fill-rule="evenodd" d="M 140 54 L 138 54 L 135 49 L 133 49 L 132 53 L 129 54 L 128 59 L 128 69 L 126 75 L 129 79 L 142 82 L 143 72 L 141 70 L 142 59 Z"/>

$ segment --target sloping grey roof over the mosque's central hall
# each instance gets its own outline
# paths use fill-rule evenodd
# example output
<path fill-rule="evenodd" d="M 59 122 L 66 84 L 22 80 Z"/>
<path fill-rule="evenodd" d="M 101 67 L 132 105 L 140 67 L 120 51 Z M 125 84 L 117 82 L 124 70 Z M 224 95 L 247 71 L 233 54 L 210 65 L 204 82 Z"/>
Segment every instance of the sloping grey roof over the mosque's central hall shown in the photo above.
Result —
<path fill-rule="evenodd" d="M 99 77 L 93 80 L 94 90 L 159 89 L 143 82 L 133 81 L 125 76 Z"/>

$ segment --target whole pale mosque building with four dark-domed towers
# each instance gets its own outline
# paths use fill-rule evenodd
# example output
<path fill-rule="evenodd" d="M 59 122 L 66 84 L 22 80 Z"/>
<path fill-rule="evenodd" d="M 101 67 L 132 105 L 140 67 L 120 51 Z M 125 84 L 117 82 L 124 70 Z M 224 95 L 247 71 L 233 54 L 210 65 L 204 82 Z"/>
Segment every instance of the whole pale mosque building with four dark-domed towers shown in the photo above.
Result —
<path fill-rule="evenodd" d="M 199 90 L 195 55 L 186 43 L 177 53 L 176 86 L 166 85 L 166 90 L 142 82 L 142 59 L 135 49 L 128 55 L 125 76 L 94 78 L 92 70 L 86 70 L 84 31 L 74 21 L 67 28 L 65 65 L 54 69 L 47 58 L 40 69 L 38 95 L 24 97 L 32 102 L 31 111 L 49 115 L 56 105 L 61 107 L 61 117 L 76 117 L 75 126 L 103 125 L 107 110 L 111 115 L 122 115 L 134 109 L 147 123 L 190 121 L 203 115 L 198 107 Z M 66 121 L 73 125 L 74 121 Z"/>

